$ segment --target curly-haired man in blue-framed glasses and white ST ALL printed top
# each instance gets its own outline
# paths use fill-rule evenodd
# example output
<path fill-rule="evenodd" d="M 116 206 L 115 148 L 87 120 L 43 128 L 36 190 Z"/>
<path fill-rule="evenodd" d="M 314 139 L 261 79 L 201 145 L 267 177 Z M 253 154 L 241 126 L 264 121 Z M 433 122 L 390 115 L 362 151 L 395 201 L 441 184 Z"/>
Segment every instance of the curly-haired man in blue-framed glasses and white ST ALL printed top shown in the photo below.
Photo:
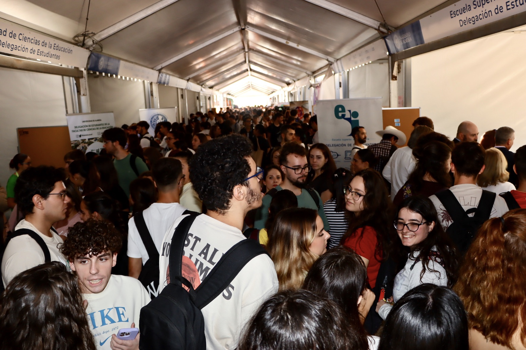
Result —
<path fill-rule="evenodd" d="M 262 171 L 250 157 L 250 140 L 241 135 L 206 142 L 190 159 L 190 180 L 207 208 L 195 218 L 186 237 L 183 269 L 196 288 L 232 246 L 245 240 L 245 215 L 261 205 L 258 178 Z M 169 281 L 170 243 L 174 231 L 187 215 L 166 232 L 159 259 L 159 292 Z M 175 253 L 172 252 L 172 253 Z M 207 348 L 228 349 L 237 345 L 250 317 L 269 296 L 278 291 L 274 263 L 267 254 L 251 259 L 213 301 L 201 309 Z"/>

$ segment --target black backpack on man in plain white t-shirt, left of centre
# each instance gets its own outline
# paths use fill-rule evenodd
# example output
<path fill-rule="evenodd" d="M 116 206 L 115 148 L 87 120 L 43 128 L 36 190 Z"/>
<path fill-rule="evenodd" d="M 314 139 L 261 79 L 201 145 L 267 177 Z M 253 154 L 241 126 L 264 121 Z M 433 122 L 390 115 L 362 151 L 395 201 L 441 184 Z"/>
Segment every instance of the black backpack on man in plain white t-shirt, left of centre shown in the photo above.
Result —
<path fill-rule="evenodd" d="M 185 210 L 182 215 L 198 214 L 194 211 Z M 143 212 L 140 211 L 133 217 L 137 231 L 141 241 L 143 241 L 146 252 L 148 253 L 148 261 L 140 270 L 138 280 L 144 285 L 150 298 L 153 299 L 159 293 L 159 252 L 155 246 L 154 240 L 151 238 L 150 231 L 144 221 Z"/>

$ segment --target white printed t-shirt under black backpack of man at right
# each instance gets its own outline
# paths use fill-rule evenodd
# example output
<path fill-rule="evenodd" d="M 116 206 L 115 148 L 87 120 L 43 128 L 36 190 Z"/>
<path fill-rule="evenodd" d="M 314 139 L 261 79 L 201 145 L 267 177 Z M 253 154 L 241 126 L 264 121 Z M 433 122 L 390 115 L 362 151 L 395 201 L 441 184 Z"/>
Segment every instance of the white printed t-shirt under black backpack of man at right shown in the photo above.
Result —
<path fill-rule="evenodd" d="M 471 208 L 477 208 L 479 206 L 480 197 L 482 196 L 482 188 L 476 184 L 463 183 L 452 186 L 449 189 L 451 192 L 453 192 L 460 205 L 462 205 L 464 211 Z M 435 194 L 431 195 L 429 199 L 433 202 L 434 207 L 437 209 L 440 223 L 442 224 L 444 230 L 446 230 L 449 225 L 453 223 L 453 219 L 451 219 L 448 211 L 446 208 L 444 208 L 444 205 Z M 495 202 L 493 203 L 493 208 L 491 209 L 490 218 L 501 217 L 507 211 L 508 205 L 506 204 L 506 201 L 497 195 L 497 198 L 495 198 Z M 474 213 L 470 215 L 473 216 Z"/>

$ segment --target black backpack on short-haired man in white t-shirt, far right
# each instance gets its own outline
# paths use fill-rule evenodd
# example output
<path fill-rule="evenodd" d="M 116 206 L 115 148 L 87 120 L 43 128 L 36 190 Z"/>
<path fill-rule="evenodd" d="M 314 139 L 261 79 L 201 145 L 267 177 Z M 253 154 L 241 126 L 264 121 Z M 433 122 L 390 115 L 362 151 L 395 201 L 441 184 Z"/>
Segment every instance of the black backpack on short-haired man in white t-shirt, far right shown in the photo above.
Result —
<path fill-rule="evenodd" d="M 482 190 L 478 207 L 468 209 L 467 211 L 464 211 L 462 205 L 460 205 L 450 190 L 440 191 L 436 195 L 453 220 L 453 223 L 449 225 L 446 232 L 456 245 L 460 255 L 464 255 L 479 228 L 484 221 L 490 218 L 497 194 Z M 468 214 L 471 213 L 475 213 L 473 217 L 468 216 Z"/>

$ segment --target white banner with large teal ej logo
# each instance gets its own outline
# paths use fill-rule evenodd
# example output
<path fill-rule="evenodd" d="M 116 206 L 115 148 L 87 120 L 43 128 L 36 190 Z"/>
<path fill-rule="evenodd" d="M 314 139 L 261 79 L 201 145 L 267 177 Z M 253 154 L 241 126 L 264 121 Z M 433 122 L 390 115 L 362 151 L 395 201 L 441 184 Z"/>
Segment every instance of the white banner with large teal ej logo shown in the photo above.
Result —
<path fill-rule="evenodd" d="M 351 166 L 350 154 L 355 146 L 351 137 L 353 127 L 366 129 L 367 146 L 381 140 L 376 133 L 383 130 L 381 97 L 318 100 L 316 114 L 319 141 L 329 147 L 337 168 Z"/>

